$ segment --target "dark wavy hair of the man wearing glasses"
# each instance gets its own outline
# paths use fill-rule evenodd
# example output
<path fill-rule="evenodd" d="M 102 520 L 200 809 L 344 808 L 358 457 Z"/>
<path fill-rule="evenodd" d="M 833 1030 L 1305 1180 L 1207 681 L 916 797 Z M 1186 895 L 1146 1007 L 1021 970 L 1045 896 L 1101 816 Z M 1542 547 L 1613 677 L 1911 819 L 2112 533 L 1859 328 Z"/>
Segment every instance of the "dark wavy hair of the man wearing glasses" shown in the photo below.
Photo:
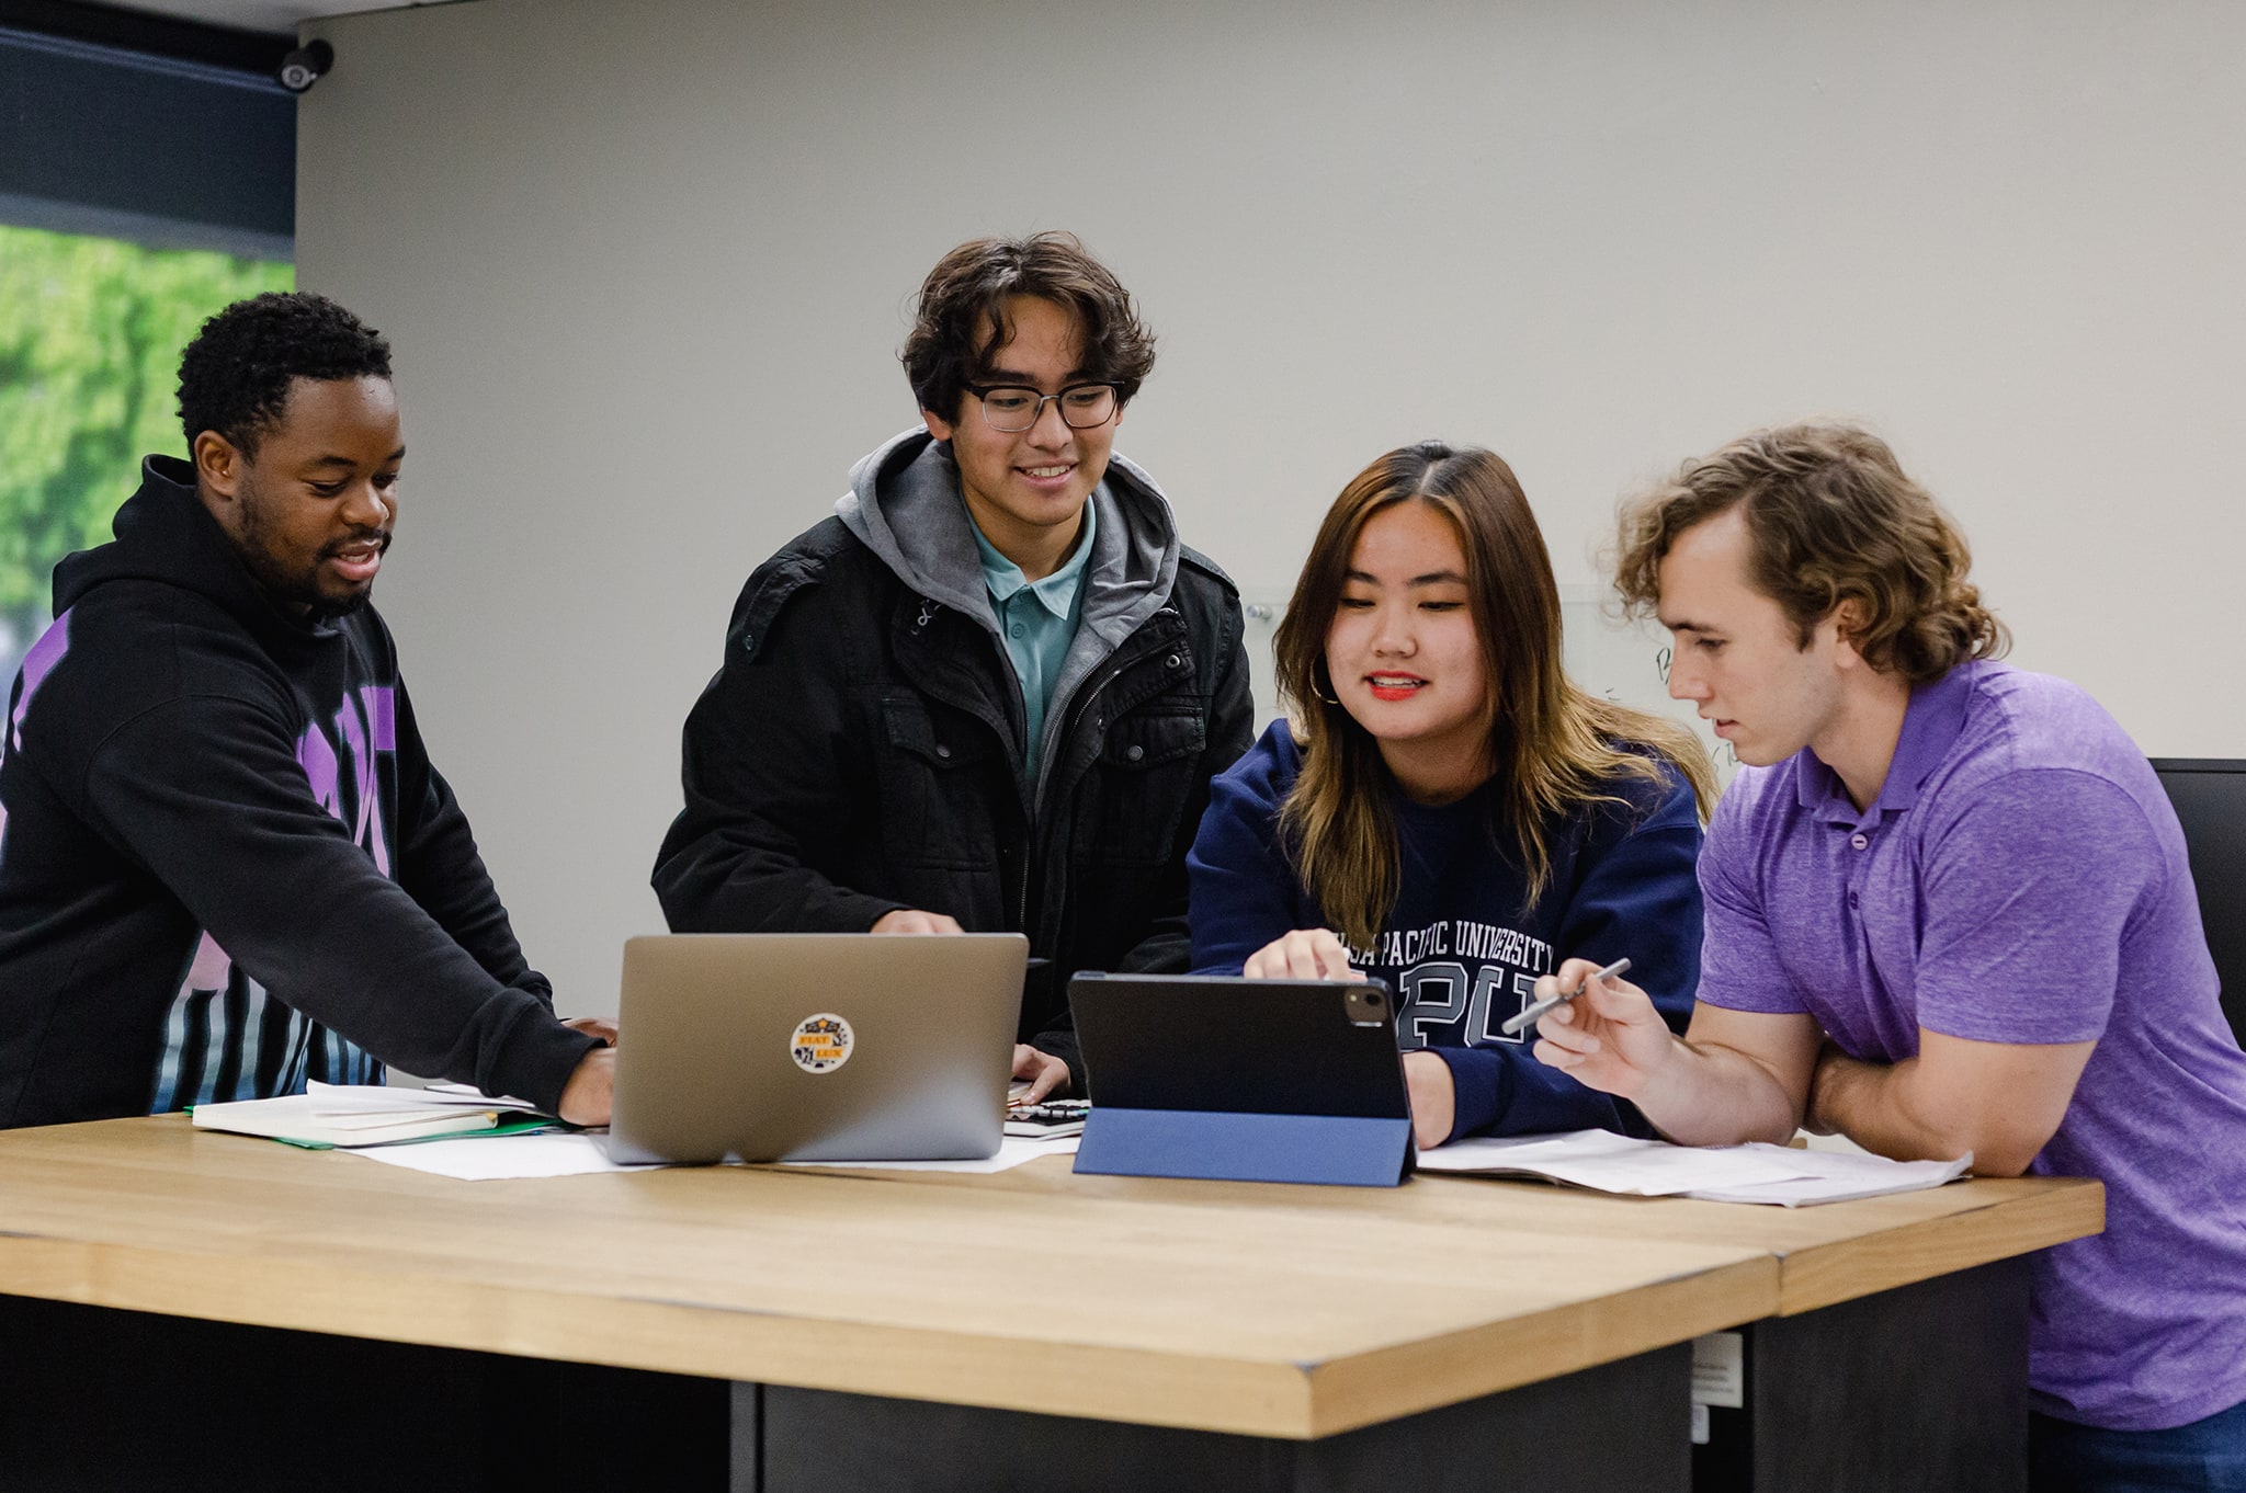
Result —
<path fill-rule="evenodd" d="M 1154 332 L 1139 321 L 1130 292 L 1074 233 L 975 238 L 921 281 L 919 314 L 901 359 L 912 397 L 941 420 L 959 420 L 968 384 L 1013 337 L 1006 296 L 1042 296 L 1076 312 L 1085 328 L 1085 375 L 1116 386 L 1127 404 L 1154 368 Z"/>

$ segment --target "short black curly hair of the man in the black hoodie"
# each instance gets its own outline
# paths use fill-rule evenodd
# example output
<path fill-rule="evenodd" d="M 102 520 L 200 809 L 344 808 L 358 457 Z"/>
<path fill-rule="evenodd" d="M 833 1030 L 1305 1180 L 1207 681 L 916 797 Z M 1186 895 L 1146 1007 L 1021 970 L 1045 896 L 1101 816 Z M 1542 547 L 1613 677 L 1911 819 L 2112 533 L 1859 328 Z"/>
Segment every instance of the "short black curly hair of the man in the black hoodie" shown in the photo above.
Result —
<path fill-rule="evenodd" d="M 236 301 L 202 323 L 180 355 L 186 445 L 218 431 L 243 456 L 281 420 L 290 379 L 391 377 L 391 344 L 328 296 L 308 290 Z"/>

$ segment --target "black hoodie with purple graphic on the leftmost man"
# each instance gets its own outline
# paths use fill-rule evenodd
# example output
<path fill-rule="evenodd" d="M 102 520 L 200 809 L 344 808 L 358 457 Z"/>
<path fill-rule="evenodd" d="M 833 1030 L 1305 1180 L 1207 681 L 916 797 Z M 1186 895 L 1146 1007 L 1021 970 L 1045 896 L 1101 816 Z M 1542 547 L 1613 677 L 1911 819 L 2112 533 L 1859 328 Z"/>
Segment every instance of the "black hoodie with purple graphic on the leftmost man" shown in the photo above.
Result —
<path fill-rule="evenodd" d="M 553 1017 L 371 606 L 296 622 L 150 456 L 0 736 L 0 1125 L 380 1082 L 553 1109 Z"/>

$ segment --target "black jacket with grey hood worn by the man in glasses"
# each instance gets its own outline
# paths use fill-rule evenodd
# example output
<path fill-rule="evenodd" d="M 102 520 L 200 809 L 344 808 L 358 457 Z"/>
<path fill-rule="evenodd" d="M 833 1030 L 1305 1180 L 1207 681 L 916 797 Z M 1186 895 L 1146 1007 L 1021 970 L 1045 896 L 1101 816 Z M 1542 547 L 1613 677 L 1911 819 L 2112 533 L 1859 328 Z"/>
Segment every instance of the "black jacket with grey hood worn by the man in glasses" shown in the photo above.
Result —
<path fill-rule="evenodd" d="M 1186 849 L 1251 739 L 1240 593 L 1114 458 L 1024 784 L 1022 694 L 957 494 L 943 447 L 898 438 L 842 516 L 748 577 L 654 885 L 676 932 L 865 932 L 898 907 L 1026 932 L 1020 1035 L 1080 1089 L 1069 974 L 1188 965 Z"/>

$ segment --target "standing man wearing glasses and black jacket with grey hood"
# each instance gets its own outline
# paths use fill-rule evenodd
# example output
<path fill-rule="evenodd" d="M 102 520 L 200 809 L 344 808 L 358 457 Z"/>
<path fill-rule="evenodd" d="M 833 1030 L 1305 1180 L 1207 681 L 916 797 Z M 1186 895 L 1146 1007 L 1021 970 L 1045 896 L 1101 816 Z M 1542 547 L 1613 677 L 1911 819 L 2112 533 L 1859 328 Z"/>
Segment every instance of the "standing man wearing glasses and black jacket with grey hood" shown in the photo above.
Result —
<path fill-rule="evenodd" d="M 1154 339 L 1076 238 L 946 254 L 903 361 L 925 429 L 748 577 L 654 885 L 674 932 L 1029 934 L 1042 1098 L 1083 1087 L 1069 974 L 1186 968 L 1240 593 L 1112 456 Z"/>

